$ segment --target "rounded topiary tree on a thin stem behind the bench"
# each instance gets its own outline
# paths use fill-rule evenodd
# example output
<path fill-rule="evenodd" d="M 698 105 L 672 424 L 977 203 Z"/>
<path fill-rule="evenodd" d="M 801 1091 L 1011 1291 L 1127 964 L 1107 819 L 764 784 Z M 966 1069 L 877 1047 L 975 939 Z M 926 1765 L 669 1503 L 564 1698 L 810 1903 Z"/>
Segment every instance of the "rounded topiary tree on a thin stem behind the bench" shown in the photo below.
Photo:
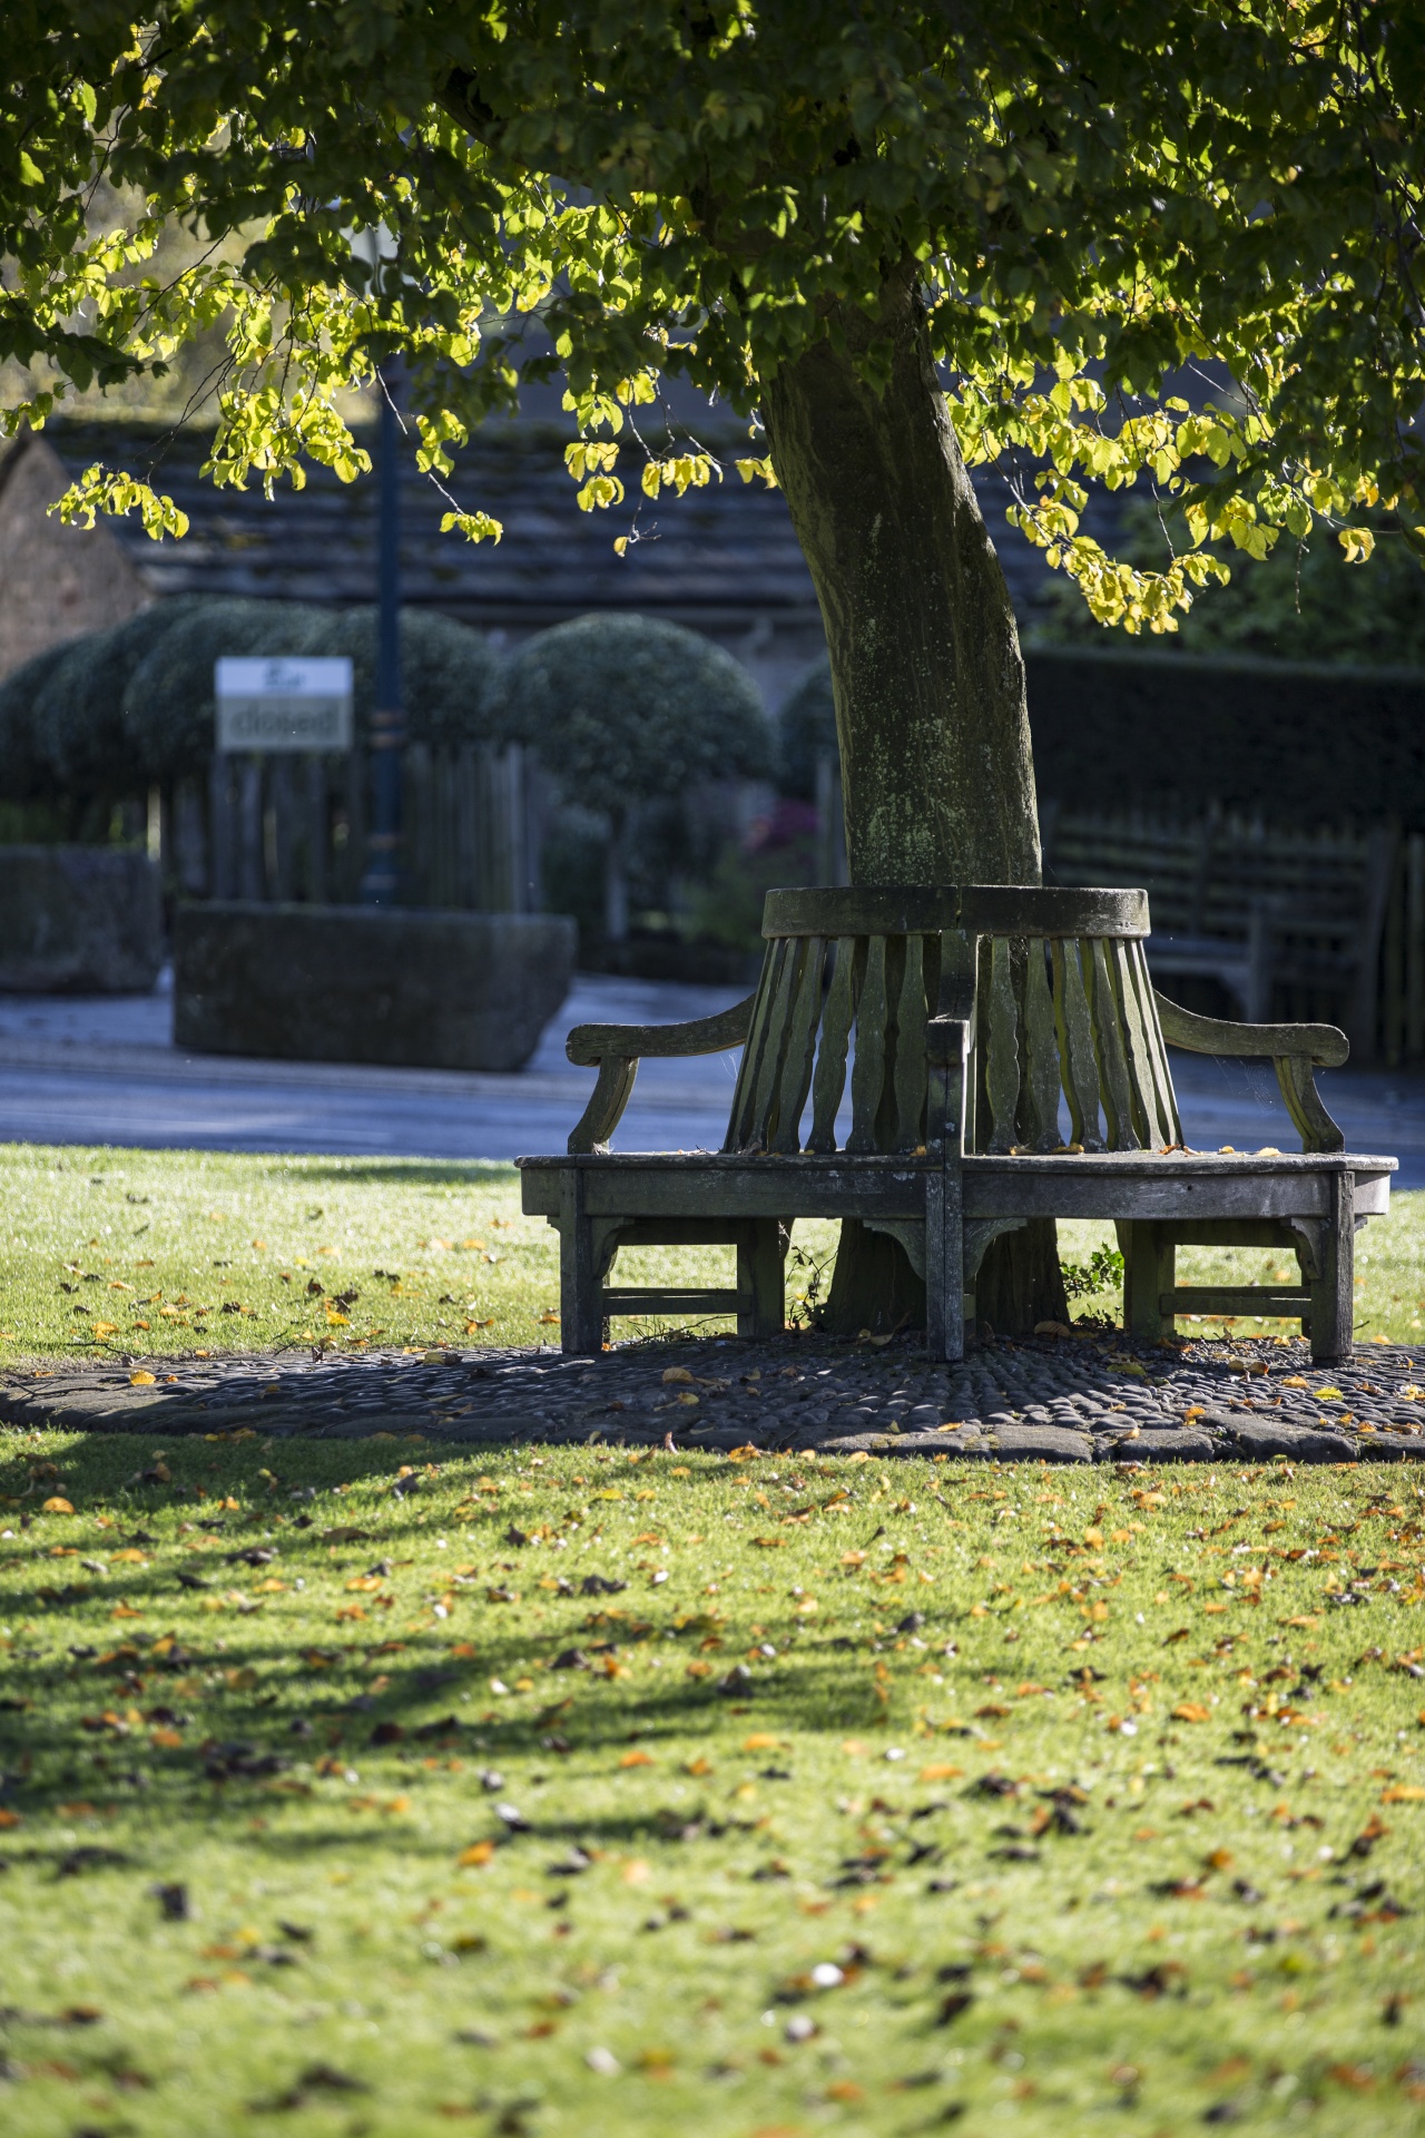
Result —
<path fill-rule="evenodd" d="M 720 646 L 647 616 L 577 616 L 511 661 L 508 721 L 564 797 L 609 819 L 605 934 L 628 934 L 628 840 L 641 804 L 767 770 L 756 684 Z"/>

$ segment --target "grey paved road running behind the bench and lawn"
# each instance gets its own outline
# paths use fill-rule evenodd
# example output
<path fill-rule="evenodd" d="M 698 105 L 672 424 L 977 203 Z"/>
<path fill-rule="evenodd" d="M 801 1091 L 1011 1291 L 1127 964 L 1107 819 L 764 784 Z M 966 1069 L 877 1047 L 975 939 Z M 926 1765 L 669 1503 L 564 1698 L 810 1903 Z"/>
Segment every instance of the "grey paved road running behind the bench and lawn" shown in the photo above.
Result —
<path fill-rule="evenodd" d="M 521 1075 L 348 1069 L 182 1054 L 171 996 L 0 996 L 0 1142 L 353 1157 L 513 1159 L 562 1150 L 592 1088 L 564 1058 L 581 1020 L 669 1024 L 733 990 L 579 975 Z M 718 1148 L 735 1054 L 645 1063 L 617 1133 L 624 1150 Z M 1269 1063 L 1173 1054 L 1190 1144 L 1299 1148 Z M 1399 1187 L 1425 1187 L 1425 1078 L 1337 1071 L 1327 1105 L 1352 1150 L 1399 1157 Z"/>

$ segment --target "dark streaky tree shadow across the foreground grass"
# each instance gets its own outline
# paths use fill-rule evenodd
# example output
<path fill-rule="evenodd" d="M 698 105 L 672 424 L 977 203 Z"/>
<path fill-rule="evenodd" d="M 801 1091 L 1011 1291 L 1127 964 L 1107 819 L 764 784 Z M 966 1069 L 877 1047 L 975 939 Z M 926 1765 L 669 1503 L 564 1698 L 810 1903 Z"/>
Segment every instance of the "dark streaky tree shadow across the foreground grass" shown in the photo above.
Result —
<path fill-rule="evenodd" d="M 675 1610 L 656 1593 L 626 1599 L 620 1593 L 620 1601 L 581 1595 L 581 1578 L 600 1565 L 596 1552 L 581 1554 L 568 1593 L 536 1591 L 543 1569 L 558 1569 L 558 1556 L 521 1554 L 502 1535 L 508 1499 L 472 1501 L 457 1518 L 470 1535 L 453 1546 L 449 1574 L 429 1561 L 421 1567 L 421 1586 L 429 1589 L 453 1576 L 461 1559 L 479 1565 L 470 1576 L 474 1586 L 453 1606 L 455 1618 L 402 1627 L 372 1610 L 357 1633 L 357 1621 L 338 1623 L 323 1599 L 320 1623 L 278 1623 L 301 1574 L 331 1576 L 342 1591 L 353 1578 L 370 1578 L 374 1565 L 389 1580 L 391 1561 L 400 1567 L 429 1539 L 421 1529 L 421 1492 L 382 1497 L 372 1512 L 363 1499 L 344 1507 L 335 1486 L 404 1484 L 400 1471 L 408 1469 L 425 1492 L 436 1479 L 459 1492 L 476 1484 L 489 1452 L 440 1452 L 440 1462 L 406 1465 L 402 1458 L 414 1450 L 400 1443 L 273 1447 L 259 1439 L 182 1437 L 156 1452 L 154 1437 L 137 1435 L 77 1435 L 66 1447 L 51 1443 L 51 1452 L 36 1450 L 32 1437 L 28 1443 L 11 1435 L 11 1447 L 0 1462 L 0 1494 L 19 1531 L 13 1559 L 21 1561 L 24 1582 L 6 1593 L 17 1633 L 0 1708 L 0 1764 L 6 1802 L 21 1811 L 118 1796 L 145 1819 L 184 1802 L 224 1815 L 237 1807 L 256 1813 L 271 1809 L 284 1787 L 295 1798 L 310 1800 L 312 1792 L 320 1798 L 327 1790 L 320 1762 L 338 1757 L 361 1762 L 363 1787 L 400 1790 L 419 1779 L 408 1762 L 421 1757 L 489 1764 L 568 1757 L 588 1770 L 590 1760 L 605 1762 L 635 1740 L 652 1753 L 675 1740 L 711 1740 L 733 1717 L 739 1723 L 750 1717 L 752 1732 L 846 1732 L 874 1730 L 882 1715 L 874 1685 L 848 1674 L 831 1636 L 799 1629 L 790 1642 L 782 1636 L 780 1657 L 752 1651 L 746 1659 L 748 1633 L 735 1618 L 726 1621 L 722 1644 L 707 1616 Z M 156 1462 L 169 1471 L 165 1479 Z M 323 1490 L 320 1505 L 306 1501 L 308 1488 Z M 199 1501 L 199 1490 L 212 1497 Z M 36 1518 L 32 1509 L 56 1497 L 81 1516 L 103 1509 L 111 1522 L 103 1544 L 71 1546 L 62 1541 L 64 1516 Z M 239 1505 L 226 1507 L 226 1499 Z M 173 1514 L 184 1516 L 184 1541 L 220 1539 L 184 1552 L 186 1586 L 177 1567 L 154 1563 L 173 1548 Z M 449 1507 L 440 1520 L 453 1520 Z M 143 1552 L 147 1563 L 124 1561 L 120 1552 Z M 252 1565 L 250 1552 L 271 1556 Z M 263 1580 L 288 1584 L 282 1601 L 259 1599 Z M 506 1621 L 489 1591 L 508 1580 L 519 1580 L 526 1601 L 558 1608 L 562 1623 Z M 365 1610 L 370 1597 L 342 1593 L 338 1601 L 344 1610 Z M 214 1604 L 222 1608 L 207 1616 L 203 1606 Z M 408 1595 L 402 1608 L 425 1614 L 429 1601 Z M 748 1599 L 746 1610 L 756 1604 Z M 51 1614 L 68 1618 L 56 1629 L 60 1648 L 53 1636 L 47 1640 Z M 688 1621 L 682 1631 L 677 1618 Z M 944 1621 L 949 1629 L 953 1614 Z M 649 1640 L 658 1644 L 660 1683 L 647 1683 Z M 564 1653 L 570 1653 L 564 1670 L 547 1668 Z M 635 1655 L 639 1683 L 620 1674 Z M 743 1683 L 737 1674 L 748 1668 Z M 494 1685 L 515 1685 L 523 1672 L 541 1672 L 543 1698 L 511 1713 Z M 284 1783 L 295 1766 L 316 1766 L 316 1777 Z"/>

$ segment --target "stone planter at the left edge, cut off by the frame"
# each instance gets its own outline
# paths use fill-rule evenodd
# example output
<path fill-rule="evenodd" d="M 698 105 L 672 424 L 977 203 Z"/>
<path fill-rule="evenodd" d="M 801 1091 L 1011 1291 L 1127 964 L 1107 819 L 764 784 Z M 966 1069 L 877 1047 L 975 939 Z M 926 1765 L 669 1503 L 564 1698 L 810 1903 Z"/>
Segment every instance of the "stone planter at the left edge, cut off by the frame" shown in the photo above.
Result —
<path fill-rule="evenodd" d="M 158 870 L 111 847 L 0 847 L 0 990 L 147 994 L 162 964 Z"/>

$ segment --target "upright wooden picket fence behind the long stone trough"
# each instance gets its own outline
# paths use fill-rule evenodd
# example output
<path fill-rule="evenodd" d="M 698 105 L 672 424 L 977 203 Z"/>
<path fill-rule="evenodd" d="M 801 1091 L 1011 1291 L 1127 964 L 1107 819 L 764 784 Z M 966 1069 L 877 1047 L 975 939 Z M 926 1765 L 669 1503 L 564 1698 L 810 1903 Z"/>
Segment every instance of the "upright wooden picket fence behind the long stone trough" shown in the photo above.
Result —
<path fill-rule="evenodd" d="M 355 904 L 370 757 L 214 755 L 207 780 L 150 797 L 150 853 L 184 898 Z M 519 744 L 402 753 L 402 902 L 538 911 L 543 783 Z"/>

